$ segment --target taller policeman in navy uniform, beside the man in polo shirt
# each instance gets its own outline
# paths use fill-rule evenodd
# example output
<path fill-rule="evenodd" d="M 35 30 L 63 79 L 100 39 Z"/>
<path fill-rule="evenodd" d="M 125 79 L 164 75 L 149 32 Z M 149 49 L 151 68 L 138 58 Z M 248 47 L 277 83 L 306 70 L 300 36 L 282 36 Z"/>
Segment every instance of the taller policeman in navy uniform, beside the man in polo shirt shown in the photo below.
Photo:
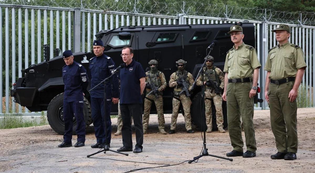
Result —
<path fill-rule="evenodd" d="M 91 79 L 91 88 L 98 85 L 105 78 L 112 74 L 116 69 L 114 61 L 106 56 L 104 53 L 104 45 L 101 40 L 94 40 L 93 52 L 96 55 L 89 61 L 89 77 Z M 113 93 L 112 87 L 113 85 Z M 106 92 L 106 100 L 104 100 L 104 87 Z M 111 101 L 114 104 L 118 103 L 118 78 L 117 74 L 113 75 L 111 80 L 107 80 L 98 87 L 94 88 L 91 92 L 91 106 L 92 106 L 92 120 L 95 129 L 96 144 L 91 145 L 92 148 L 103 148 L 106 144 L 110 147 L 111 134 L 112 134 L 112 121 L 110 117 Z M 104 115 L 104 102 L 106 103 L 106 112 Z M 104 118 L 105 116 L 105 118 Z M 104 124 L 106 122 L 106 129 Z"/>

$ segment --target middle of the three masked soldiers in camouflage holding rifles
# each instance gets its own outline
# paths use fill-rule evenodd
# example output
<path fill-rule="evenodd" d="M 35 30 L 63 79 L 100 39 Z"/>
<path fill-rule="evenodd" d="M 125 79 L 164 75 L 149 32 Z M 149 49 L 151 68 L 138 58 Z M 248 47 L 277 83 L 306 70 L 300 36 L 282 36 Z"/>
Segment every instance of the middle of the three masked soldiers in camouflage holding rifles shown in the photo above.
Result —
<path fill-rule="evenodd" d="M 171 88 L 174 87 L 173 113 L 171 120 L 171 130 L 169 131 L 169 134 L 175 133 L 180 102 L 182 103 L 184 109 L 184 119 L 187 133 L 194 133 L 194 131 L 192 130 L 190 117 L 190 105 L 192 104 L 192 101 L 190 100 L 189 97 L 186 97 L 184 92 L 179 95 L 179 93 L 183 90 L 183 83 L 179 81 L 179 78 L 181 76 L 183 76 L 185 81 L 189 84 L 188 88 L 189 92 L 191 91 L 192 84 L 194 82 L 192 74 L 185 70 L 186 63 L 187 62 L 184 61 L 183 59 L 176 61 L 176 67 L 178 70 L 174 72 L 169 78 L 169 87 Z"/>

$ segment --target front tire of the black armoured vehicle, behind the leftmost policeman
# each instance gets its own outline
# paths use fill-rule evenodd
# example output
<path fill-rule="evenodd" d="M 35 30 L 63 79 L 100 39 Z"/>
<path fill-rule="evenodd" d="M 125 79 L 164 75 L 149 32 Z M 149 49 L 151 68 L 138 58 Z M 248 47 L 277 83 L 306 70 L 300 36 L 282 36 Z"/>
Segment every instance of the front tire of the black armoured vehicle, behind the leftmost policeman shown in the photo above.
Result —
<path fill-rule="evenodd" d="M 49 122 L 50 127 L 60 135 L 63 135 L 65 132 L 65 124 L 63 122 L 63 96 L 64 94 L 58 94 L 54 97 L 48 105 L 47 108 L 47 120 Z M 90 124 L 92 124 L 92 115 L 91 115 L 91 106 L 90 102 L 83 97 L 84 105 L 83 105 L 83 116 L 85 125 L 87 128 Z M 75 129 L 77 128 L 77 121 L 73 120 L 73 130 L 72 134 L 75 135 Z"/>

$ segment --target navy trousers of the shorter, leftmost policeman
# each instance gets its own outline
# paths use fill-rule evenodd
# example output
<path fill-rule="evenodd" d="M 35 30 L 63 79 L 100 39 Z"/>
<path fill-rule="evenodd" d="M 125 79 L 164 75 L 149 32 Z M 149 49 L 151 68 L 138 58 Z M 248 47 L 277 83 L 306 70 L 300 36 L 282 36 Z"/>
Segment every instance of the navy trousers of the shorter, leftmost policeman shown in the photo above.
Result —
<path fill-rule="evenodd" d="M 65 122 L 64 142 L 71 142 L 73 115 L 76 118 L 77 141 L 85 142 L 85 122 L 83 116 L 83 101 L 63 102 L 63 120 Z"/>

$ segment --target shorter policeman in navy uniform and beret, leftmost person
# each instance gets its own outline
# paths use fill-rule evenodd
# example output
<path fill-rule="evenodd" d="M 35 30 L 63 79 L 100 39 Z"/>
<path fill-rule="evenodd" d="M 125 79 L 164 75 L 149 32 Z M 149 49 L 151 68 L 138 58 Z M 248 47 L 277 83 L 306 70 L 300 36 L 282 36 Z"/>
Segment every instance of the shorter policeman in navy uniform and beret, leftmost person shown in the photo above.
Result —
<path fill-rule="evenodd" d="M 83 117 L 83 92 L 88 87 L 88 78 L 85 68 L 73 60 L 71 50 L 63 54 L 66 65 L 62 68 L 62 78 L 65 83 L 63 99 L 63 117 L 65 122 L 65 134 L 63 142 L 58 147 L 72 147 L 72 117 L 77 121 L 77 143 L 74 147 L 82 147 L 85 142 L 85 122 Z"/>

